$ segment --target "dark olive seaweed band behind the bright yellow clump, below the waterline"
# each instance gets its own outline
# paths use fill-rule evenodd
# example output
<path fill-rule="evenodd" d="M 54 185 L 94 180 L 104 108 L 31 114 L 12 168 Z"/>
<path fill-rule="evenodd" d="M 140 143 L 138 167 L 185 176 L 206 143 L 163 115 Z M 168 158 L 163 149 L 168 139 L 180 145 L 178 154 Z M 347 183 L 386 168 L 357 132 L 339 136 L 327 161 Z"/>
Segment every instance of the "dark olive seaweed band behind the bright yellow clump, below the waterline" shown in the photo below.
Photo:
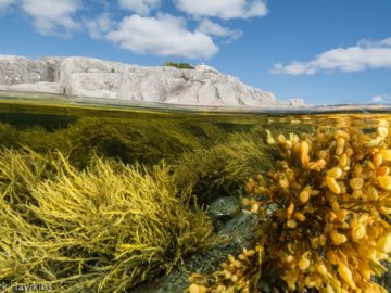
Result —
<path fill-rule="evenodd" d="M 220 141 L 222 126 L 209 122 L 86 116 L 67 127 L 48 130 L 42 126 L 17 128 L 0 123 L 0 144 L 38 153 L 60 150 L 72 164 L 85 167 L 97 154 L 124 163 L 159 164 L 174 161 L 180 153 Z"/>

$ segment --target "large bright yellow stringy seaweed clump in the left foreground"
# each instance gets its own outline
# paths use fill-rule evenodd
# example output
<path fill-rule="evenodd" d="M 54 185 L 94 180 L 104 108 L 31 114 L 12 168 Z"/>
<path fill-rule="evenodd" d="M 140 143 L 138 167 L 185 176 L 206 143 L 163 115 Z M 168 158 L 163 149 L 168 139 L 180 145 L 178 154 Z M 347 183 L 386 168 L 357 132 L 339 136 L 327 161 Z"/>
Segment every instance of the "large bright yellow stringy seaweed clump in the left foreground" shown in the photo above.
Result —
<path fill-rule="evenodd" d="M 212 225 L 163 164 L 0 151 L 0 281 L 125 292 L 207 245 Z M 12 290 L 12 286 L 9 286 Z"/>

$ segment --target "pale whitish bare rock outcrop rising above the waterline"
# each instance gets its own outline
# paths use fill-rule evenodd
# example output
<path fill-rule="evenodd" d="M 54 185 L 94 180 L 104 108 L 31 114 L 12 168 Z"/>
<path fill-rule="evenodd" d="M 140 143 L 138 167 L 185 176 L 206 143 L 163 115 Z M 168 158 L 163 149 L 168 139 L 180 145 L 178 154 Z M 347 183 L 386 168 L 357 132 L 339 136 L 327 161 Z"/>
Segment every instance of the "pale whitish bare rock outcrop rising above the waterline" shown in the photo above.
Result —
<path fill-rule="evenodd" d="M 0 55 L 0 90 L 189 105 L 291 105 L 205 65 L 141 67 L 89 58 Z"/>

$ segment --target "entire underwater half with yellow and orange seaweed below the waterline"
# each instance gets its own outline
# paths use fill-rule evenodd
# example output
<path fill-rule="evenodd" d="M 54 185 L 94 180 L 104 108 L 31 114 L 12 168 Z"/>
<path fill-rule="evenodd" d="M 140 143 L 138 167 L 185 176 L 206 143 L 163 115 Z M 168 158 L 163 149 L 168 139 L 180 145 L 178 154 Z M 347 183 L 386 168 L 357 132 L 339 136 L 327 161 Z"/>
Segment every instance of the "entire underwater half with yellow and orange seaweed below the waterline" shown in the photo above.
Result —
<path fill-rule="evenodd" d="M 391 113 L 0 99 L 1 292 L 390 292 Z"/>

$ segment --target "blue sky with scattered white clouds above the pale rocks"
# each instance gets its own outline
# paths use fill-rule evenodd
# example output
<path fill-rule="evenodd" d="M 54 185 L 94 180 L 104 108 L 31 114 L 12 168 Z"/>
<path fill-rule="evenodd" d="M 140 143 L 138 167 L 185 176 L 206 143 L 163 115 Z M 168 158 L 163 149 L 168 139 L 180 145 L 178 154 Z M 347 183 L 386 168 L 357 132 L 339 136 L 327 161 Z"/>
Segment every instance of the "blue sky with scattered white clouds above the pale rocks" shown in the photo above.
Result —
<path fill-rule="evenodd" d="M 0 0 L 0 54 L 205 63 L 311 104 L 391 102 L 390 0 Z"/>

